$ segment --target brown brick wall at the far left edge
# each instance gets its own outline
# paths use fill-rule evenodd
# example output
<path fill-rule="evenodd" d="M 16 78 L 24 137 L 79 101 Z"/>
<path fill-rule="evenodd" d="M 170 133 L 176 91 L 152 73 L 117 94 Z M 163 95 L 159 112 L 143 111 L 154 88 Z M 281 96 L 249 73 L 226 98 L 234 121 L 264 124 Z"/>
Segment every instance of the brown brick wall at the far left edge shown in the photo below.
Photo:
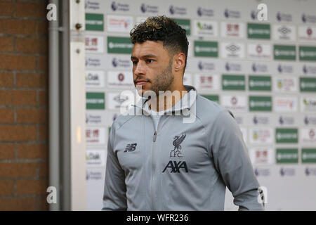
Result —
<path fill-rule="evenodd" d="M 0 0 L 0 210 L 48 210 L 46 0 Z"/>

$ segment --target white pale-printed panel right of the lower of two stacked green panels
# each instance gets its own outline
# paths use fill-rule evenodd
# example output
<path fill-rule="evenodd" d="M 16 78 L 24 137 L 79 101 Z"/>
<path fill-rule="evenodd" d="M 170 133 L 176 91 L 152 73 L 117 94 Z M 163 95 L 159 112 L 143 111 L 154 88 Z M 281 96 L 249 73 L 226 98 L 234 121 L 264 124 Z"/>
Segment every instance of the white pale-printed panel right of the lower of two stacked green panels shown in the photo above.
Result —
<path fill-rule="evenodd" d="M 274 101 L 275 112 L 295 113 L 298 110 L 297 97 L 275 96 Z"/>

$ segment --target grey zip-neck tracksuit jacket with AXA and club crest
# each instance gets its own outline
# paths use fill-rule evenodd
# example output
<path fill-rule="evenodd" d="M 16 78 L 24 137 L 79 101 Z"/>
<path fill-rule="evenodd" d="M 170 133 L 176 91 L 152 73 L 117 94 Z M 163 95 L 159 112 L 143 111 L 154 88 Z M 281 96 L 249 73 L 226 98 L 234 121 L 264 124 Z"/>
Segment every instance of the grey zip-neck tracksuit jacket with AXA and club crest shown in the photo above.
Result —
<path fill-rule="evenodd" d="M 133 111 L 143 115 L 113 122 L 103 210 L 224 210 L 226 186 L 239 210 L 264 209 L 234 118 L 192 86 L 185 88 L 192 101 L 162 115 L 157 131 L 144 103 Z M 195 120 L 183 122 L 185 117 Z"/>

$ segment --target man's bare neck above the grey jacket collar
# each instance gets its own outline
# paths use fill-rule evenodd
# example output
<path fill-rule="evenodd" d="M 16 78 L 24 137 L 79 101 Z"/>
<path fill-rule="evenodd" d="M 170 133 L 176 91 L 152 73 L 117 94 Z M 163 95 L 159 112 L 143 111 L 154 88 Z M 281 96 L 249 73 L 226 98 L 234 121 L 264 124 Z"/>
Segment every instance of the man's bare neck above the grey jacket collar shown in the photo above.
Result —
<path fill-rule="evenodd" d="M 187 90 L 181 84 L 178 88 L 171 88 L 169 91 L 165 91 L 164 94 L 157 96 L 157 98 L 151 99 L 150 108 L 154 111 L 167 110 L 176 105 L 185 94 L 187 94 Z"/>

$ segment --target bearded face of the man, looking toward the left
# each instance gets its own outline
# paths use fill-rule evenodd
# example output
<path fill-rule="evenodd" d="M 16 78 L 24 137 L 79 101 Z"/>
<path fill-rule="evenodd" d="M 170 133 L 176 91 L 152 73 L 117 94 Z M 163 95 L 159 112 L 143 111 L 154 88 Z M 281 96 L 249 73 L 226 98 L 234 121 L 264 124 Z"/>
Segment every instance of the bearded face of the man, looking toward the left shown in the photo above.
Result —
<path fill-rule="evenodd" d="M 131 54 L 133 62 L 133 80 L 135 86 L 142 86 L 145 91 L 170 90 L 173 83 L 172 60 L 168 51 L 164 49 L 162 41 L 145 41 L 136 43 Z M 139 93 L 140 94 L 140 93 Z"/>

